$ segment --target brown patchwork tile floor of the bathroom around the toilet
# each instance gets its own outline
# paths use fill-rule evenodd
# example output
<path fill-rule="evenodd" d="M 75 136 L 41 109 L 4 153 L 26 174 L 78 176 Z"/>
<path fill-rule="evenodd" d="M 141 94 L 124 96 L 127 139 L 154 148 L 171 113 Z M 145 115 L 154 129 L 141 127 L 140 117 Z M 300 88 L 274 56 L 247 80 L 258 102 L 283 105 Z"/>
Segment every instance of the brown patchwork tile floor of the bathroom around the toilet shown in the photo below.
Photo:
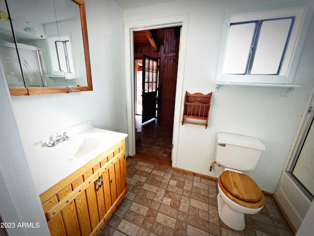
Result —
<path fill-rule="evenodd" d="M 99 236 L 292 236 L 273 199 L 234 231 L 218 216 L 217 183 L 127 159 L 128 194 Z"/>

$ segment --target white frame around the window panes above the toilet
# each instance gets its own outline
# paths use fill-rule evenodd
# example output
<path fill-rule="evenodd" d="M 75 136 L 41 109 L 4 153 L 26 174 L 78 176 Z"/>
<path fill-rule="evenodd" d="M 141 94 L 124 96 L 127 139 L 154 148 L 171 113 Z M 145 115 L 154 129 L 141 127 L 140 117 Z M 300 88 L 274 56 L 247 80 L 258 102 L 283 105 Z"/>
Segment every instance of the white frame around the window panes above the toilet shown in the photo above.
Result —
<path fill-rule="evenodd" d="M 313 9 L 308 6 L 278 10 L 265 10 L 253 13 L 226 13 L 222 42 L 218 57 L 216 84 L 248 84 L 248 85 L 290 85 L 293 82 L 298 61 L 312 19 Z M 231 75 L 222 74 L 224 55 L 231 23 L 247 22 L 282 17 L 295 17 L 286 55 L 279 75 Z"/>

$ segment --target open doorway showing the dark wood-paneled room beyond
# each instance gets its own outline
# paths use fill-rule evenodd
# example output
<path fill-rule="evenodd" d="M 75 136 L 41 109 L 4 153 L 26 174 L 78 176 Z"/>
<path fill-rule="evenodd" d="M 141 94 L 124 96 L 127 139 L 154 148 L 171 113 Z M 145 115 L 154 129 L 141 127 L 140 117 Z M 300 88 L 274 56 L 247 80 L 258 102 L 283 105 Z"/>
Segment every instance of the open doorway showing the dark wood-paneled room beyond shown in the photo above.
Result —
<path fill-rule="evenodd" d="M 133 34 L 135 157 L 145 156 L 168 166 L 171 166 L 180 29 L 180 26 L 149 29 Z"/>

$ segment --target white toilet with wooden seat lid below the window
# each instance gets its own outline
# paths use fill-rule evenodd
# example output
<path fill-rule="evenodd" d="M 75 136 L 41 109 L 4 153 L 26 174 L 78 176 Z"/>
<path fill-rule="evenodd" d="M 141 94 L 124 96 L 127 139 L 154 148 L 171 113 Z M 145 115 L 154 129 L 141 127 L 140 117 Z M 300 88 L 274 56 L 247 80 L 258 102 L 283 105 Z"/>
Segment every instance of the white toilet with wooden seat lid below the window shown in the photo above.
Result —
<path fill-rule="evenodd" d="M 242 171 L 253 171 L 259 161 L 263 143 L 253 137 L 217 133 L 215 161 L 225 170 L 218 177 L 218 214 L 230 228 L 245 228 L 244 214 L 258 213 L 265 197 L 257 183 Z"/>

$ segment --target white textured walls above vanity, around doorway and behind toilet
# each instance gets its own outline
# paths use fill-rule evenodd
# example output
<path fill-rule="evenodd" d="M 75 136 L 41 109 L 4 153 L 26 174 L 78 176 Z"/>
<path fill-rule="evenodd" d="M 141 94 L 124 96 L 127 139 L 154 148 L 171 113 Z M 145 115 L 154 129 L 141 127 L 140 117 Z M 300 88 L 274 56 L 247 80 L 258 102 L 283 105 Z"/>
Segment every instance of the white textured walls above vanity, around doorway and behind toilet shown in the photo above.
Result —
<path fill-rule="evenodd" d="M 273 1 L 266 1 L 267 2 Z M 278 1 L 280 2 L 280 1 Z M 282 2 L 282 1 L 281 1 Z M 187 0 L 126 10 L 125 21 L 189 14 L 183 91 L 208 93 L 214 89 L 217 58 L 225 9 L 249 1 Z M 254 2 L 251 2 L 252 7 Z M 115 2 L 86 1 L 87 27 L 93 91 L 12 97 L 16 119 L 26 149 L 43 135 L 91 119 L 100 128 L 127 132 L 124 76 L 123 11 Z M 200 37 L 202 35 L 202 37 Z M 309 38 L 308 41 L 313 40 Z M 209 127 L 178 127 L 178 155 L 174 165 L 186 170 L 209 173 L 214 160 L 216 132 L 231 132 L 260 138 L 266 151 L 250 175 L 265 191 L 273 192 L 283 170 L 291 142 L 313 86 L 313 49 L 305 48 L 288 97 L 281 88 L 221 86 L 213 94 Z M 131 88 L 127 88 L 131 89 Z M 176 104 L 181 113 L 181 104 Z M 180 122 L 178 122 L 180 123 Z M 194 137 L 197 137 L 195 139 Z M 27 158 L 31 158 L 27 156 Z"/>

